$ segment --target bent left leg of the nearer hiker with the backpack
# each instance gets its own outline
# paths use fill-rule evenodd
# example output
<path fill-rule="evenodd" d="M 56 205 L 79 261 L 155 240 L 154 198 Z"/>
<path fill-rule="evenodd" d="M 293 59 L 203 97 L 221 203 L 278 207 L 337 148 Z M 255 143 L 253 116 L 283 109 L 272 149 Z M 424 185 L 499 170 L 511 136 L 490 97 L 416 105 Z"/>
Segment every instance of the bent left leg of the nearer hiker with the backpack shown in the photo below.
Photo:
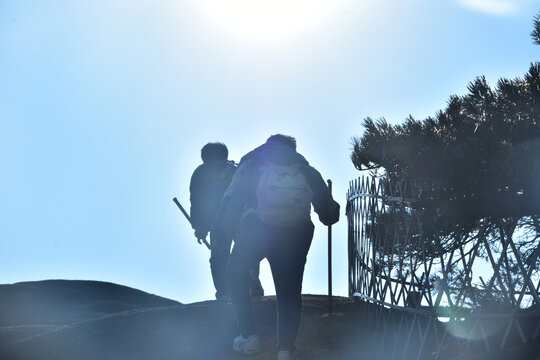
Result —
<path fill-rule="evenodd" d="M 229 296 L 236 312 L 238 327 L 244 337 L 255 333 L 251 296 L 250 269 L 265 257 L 264 225 L 256 216 L 247 217 L 240 224 L 227 266 Z"/>

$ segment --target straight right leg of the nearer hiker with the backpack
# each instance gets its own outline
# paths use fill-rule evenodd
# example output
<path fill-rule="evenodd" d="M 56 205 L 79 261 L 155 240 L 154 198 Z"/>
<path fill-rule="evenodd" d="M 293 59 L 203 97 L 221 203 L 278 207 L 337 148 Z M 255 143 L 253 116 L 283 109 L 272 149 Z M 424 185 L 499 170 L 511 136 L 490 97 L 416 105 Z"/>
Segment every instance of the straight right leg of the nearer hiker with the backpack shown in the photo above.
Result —
<path fill-rule="evenodd" d="M 268 255 L 276 286 L 278 348 L 294 351 L 302 317 L 302 279 L 313 238 L 311 222 L 281 231 Z"/>

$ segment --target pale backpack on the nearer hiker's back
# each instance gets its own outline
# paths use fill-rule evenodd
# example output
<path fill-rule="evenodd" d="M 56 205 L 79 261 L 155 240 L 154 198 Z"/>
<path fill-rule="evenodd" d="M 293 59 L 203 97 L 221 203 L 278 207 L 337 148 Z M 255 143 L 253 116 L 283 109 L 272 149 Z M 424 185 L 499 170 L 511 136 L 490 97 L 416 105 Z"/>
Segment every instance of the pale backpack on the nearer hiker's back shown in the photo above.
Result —
<path fill-rule="evenodd" d="M 291 227 L 310 219 L 313 191 L 302 166 L 265 163 L 260 168 L 255 213 L 266 225 Z"/>

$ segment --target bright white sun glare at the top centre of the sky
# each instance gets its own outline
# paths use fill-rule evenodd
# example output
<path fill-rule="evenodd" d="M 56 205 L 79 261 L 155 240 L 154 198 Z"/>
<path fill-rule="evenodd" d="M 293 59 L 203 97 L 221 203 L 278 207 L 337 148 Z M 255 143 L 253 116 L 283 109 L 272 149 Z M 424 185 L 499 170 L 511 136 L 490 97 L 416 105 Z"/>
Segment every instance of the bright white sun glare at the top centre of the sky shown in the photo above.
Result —
<path fill-rule="evenodd" d="M 313 31 L 350 0 L 194 0 L 205 22 L 240 40 L 283 42 Z"/>

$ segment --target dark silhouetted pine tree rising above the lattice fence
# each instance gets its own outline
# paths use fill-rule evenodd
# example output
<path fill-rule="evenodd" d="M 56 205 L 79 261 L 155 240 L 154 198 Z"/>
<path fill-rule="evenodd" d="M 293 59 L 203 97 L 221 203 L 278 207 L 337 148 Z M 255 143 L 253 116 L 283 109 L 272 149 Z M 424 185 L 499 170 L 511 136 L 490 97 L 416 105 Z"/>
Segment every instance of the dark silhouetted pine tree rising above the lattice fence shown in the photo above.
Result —
<path fill-rule="evenodd" d="M 540 45 L 540 14 L 531 36 Z M 451 96 L 434 117 L 409 116 L 398 125 L 366 118 L 363 126 L 353 139 L 353 164 L 414 184 L 411 208 L 422 220 L 417 231 L 433 245 L 433 256 L 474 240 L 480 221 L 494 232 L 501 222 L 512 224 L 512 232 L 527 231 L 518 244 L 522 254 L 538 252 L 540 62 L 523 78 L 502 78 L 494 88 L 484 76 L 476 78 L 468 94 Z M 390 224 L 391 216 L 376 221 Z"/>

